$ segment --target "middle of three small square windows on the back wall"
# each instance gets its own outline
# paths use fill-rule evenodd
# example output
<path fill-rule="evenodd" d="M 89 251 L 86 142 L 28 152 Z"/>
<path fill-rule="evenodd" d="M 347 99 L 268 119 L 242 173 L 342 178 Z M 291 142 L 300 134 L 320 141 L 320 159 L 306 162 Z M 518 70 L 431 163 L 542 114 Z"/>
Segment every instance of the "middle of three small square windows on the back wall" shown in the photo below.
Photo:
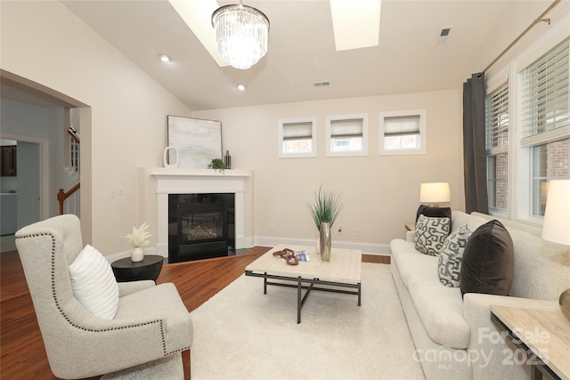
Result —
<path fill-rule="evenodd" d="M 368 115 L 329 116 L 326 119 L 327 156 L 368 155 Z"/>

